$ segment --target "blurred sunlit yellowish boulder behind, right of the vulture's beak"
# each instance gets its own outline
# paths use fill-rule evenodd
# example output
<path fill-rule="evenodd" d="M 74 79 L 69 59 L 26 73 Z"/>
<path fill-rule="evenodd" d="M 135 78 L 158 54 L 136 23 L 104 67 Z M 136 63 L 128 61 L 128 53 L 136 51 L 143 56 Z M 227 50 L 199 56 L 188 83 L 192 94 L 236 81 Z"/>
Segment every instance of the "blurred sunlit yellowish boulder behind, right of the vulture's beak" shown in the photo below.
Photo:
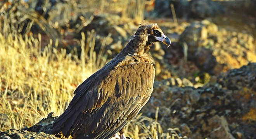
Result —
<path fill-rule="evenodd" d="M 208 20 L 192 22 L 180 35 L 179 44 L 184 43 L 188 46 L 188 59 L 212 75 L 256 62 L 251 35 L 219 29 Z"/>

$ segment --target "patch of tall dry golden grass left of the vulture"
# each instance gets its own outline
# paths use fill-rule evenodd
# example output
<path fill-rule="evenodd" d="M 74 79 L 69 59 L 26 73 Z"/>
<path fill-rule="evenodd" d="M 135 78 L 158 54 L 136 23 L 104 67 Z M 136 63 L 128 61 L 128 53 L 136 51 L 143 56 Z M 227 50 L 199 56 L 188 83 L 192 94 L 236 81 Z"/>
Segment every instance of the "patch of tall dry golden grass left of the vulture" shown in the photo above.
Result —
<path fill-rule="evenodd" d="M 94 71 L 93 64 L 51 44 L 40 49 L 40 39 L 0 34 L 0 130 L 31 126 L 49 112 L 61 114 L 76 86 Z"/>

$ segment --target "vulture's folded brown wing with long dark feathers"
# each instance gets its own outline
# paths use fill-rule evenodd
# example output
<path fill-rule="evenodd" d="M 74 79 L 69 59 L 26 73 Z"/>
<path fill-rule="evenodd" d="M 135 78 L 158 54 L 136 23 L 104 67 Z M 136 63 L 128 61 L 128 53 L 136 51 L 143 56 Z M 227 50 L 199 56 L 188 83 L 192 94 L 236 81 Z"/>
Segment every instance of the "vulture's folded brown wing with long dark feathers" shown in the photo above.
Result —
<path fill-rule="evenodd" d="M 109 138 L 148 101 L 155 76 L 152 63 L 126 61 L 106 66 L 76 89 L 69 107 L 55 121 L 64 136 Z"/>

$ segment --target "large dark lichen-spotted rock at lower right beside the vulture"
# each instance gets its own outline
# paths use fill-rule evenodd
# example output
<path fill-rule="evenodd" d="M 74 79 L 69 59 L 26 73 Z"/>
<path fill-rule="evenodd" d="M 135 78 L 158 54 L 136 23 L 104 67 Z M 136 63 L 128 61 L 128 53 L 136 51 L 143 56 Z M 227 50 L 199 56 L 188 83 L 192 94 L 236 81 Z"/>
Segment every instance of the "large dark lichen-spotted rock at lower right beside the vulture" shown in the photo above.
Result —
<path fill-rule="evenodd" d="M 173 86 L 175 80 L 156 81 L 146 116 L 161 125 L 179 127 L 192 139 L 255 138 L 256 63 L 230 70 L 201 88 Z M 154 107 L 155 109 L 152 109 Z"/>

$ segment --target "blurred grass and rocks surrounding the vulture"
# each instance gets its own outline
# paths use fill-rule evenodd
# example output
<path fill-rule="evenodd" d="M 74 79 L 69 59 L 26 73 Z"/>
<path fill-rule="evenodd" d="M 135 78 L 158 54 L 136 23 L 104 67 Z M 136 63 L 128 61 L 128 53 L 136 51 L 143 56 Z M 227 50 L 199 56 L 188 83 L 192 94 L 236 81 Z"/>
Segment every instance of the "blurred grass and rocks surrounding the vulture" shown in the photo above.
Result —
<path fill-rule="evenodd" d="M 256 138 L 255 7 L 256 0 L 0 0 L 0 131 L 62 114 L 75 88 L 145 20 L 171 46 L 151 47 L 154 93 L 126 136 Z"/>

